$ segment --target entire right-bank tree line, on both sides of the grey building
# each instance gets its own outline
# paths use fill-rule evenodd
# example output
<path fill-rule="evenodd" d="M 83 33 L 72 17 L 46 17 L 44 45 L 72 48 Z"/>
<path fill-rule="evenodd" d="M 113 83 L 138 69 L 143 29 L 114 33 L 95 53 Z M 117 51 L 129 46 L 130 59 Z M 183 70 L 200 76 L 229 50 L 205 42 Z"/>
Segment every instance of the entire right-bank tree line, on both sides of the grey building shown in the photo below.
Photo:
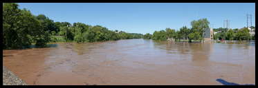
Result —
<path fill-rule="evenodd" d="M 167 39 L 174 39 L 174 41 L 203 41 L 203 32 L 205 28 L 209 28 L 210 22 L 208 19 L 199 19 L 197 21 L 192 21 L 192 28 L 187 28 L 183 26 L 178 31 L 166 28 L 165 30 L 155 31 L 153 34 L 145 34 L 143 35 L 143 39 L 153 39 L 159 41 L 165 41 Z M 255 29 L 255 27 L 251 27 Z M 250 30 L 248 28 L 241 29 L 228 29 L 228 28 L 215 28 L 213 29 L 214 34 L 213 39 L 219 40 L 255 40 L 254 35 L 250 35 Z M 255 31 L 255 30 L 254 30 Z"/>

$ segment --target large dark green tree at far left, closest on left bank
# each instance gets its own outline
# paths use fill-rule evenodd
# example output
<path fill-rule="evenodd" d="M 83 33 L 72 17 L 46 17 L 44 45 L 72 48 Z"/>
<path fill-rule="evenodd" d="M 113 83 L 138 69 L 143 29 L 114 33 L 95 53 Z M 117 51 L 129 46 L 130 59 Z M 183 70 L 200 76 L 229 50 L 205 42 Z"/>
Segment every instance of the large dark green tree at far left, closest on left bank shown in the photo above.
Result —
<path fill-rule="evenodd" d="M 45 46 L 49 36 L 44 34 L 41 23 L 30 11 L 20 10 L 18 6 L 17 3 L 3 3 L 3 48 L 27 47 L 33 42 L 39 43 L 39 39 L 44 40 L 40 46 Z"/>

